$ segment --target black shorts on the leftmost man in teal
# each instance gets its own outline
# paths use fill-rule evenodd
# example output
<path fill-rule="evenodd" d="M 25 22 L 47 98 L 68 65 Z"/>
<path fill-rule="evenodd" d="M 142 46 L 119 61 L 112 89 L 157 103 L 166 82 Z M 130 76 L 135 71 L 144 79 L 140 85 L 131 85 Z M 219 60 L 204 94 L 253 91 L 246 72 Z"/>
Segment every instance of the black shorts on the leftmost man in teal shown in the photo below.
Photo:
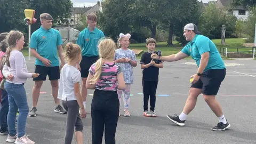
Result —
<path fill-rule="evenodd" d="M 36 65 L 35 73 L 38 73 L 39 76 L 33 78 L 33 81 L 45 81 L 46 76 L 49 76 L 49 80 L 57 80 L 60 79 L 60 67 L 46 67 Z"/>

